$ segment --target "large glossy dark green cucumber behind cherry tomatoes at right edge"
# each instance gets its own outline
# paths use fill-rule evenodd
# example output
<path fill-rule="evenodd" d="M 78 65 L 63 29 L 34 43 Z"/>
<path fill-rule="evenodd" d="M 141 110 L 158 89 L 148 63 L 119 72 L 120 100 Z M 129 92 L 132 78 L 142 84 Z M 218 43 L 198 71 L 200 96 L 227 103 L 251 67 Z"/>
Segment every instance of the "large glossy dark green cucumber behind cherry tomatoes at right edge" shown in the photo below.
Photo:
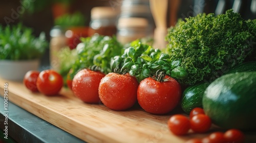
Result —
<path fill-rule="evenodd" d="M 256 71 L 221 76 L 203 96 L 205 114 L 221 128 L 256 129 Z"/>

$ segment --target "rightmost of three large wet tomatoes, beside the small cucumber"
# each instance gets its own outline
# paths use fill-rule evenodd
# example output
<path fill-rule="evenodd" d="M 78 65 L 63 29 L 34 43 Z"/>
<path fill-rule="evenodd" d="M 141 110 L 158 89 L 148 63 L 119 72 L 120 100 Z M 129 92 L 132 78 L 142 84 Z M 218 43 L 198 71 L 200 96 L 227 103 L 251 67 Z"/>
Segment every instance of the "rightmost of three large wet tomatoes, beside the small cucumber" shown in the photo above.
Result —
<path fill-rule="evenodd" d="M 145 78 L 138 87 L 139 105 L 147 112 L 153 114 L 165 114 L 172 111 L 179 103 L 181 86 L 173 78 L 159 82 L 153 78 Z"/>

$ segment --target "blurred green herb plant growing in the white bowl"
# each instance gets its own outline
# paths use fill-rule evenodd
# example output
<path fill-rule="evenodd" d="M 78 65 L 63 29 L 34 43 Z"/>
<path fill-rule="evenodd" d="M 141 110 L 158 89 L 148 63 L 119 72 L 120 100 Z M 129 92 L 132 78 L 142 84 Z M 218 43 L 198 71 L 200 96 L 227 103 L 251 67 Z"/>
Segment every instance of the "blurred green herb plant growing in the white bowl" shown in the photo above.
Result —
<path fill-rule="evenodd" d="M 16 26 L 0 25 L 0 59 L 1 60 L 30 60 L 39 59 L 48 48 L 44 32 L 39 37 L 32 34 L 32 29 L 21 23 Z"/>

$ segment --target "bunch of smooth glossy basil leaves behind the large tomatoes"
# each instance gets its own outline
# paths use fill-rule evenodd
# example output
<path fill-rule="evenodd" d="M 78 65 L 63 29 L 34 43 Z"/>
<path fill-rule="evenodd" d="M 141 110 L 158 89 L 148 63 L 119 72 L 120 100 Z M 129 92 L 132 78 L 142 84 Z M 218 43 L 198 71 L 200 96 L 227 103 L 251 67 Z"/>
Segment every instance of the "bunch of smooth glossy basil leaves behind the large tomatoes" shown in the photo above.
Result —
<path fill-rule="evenodd" d="M 140 40 L 131 42 L 131 46 L 125 49 L 121 56 L 115 56 L 111 60 L 111 68 L 119 69 L 119 73 L 129 72 L 137 78 L 138 82 L 155 75 L 161 70 L 166 75 L 177 79 L 185 79 L 186 71 L 180 67 L 180 61 L 171 61 L 168 54 L 159 49 L 153 49 L 150 45 L 141 43 Z"/>

